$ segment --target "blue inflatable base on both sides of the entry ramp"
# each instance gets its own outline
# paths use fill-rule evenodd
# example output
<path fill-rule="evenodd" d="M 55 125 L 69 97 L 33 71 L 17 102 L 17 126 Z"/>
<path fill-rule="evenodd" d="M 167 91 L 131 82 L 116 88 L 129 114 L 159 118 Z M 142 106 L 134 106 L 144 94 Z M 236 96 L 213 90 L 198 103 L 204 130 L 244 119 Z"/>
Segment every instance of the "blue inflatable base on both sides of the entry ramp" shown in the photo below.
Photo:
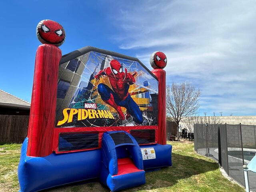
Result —
<path fill-rule="evenodd" d="M 140 146 L 140 148 L 149 147 L 154 148 L 156 159 L 143 160 L 144 169 L 172 166 L 171 145 Z M 20 192 L 36 192 L 74 182 L 100 178 L 102 168 L 100 149 L 63 154 L 52 153 L 46 157 L 30 157 L 26 155 L 27 148 L 28 138 L 23 142 L 18 166 Z M 140 182 L 140 184 L 144 183 L 143 180 Z M 126 187 L 129 188 L 129 184 Z M 116 189 L 118 189 L 118 186 L 116 186 Z"/>

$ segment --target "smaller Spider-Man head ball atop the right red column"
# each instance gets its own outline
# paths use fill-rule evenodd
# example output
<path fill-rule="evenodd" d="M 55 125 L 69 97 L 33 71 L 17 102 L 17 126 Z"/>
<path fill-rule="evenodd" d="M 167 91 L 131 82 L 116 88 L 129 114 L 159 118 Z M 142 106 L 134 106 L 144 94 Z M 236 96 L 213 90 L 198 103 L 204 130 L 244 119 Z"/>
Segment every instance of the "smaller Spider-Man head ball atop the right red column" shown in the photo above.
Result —
<path fill-rule="evenodd" d="M 154 69 L 163 69 L 167 64 L 166 55 L 163 52 L 156 51 L 150 56 L 150 65 Z"/>

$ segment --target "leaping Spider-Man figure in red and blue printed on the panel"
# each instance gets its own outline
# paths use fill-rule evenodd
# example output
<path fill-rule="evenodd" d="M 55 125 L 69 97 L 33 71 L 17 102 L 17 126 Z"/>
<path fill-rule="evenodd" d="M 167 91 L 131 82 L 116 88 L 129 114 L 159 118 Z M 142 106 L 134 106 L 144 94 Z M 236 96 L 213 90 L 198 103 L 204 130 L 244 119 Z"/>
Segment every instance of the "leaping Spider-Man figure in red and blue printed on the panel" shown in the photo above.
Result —
<path fill-rule="evenodd" d="M 130 85 L 135 83 L 134 76 L 136 74 L 136 72 L 134 74 L 128 73 L 126 68 L 125 72 L 123 72 L 120 62 L 118 60 L 111 60 L 110 67 L 100 70 L 94 78 L 99 80 L 102 75 L 108 76 L 113 90 L 106 84 L 100 83 L 98 85 L 98 92 L 102 100 L 116 110 L 121 120 L 125 119 L 121 107 L 125 107 L 126 119 L 132 116 L 134 122 L 142 124 L 142 112 L 128 92 Z"/>

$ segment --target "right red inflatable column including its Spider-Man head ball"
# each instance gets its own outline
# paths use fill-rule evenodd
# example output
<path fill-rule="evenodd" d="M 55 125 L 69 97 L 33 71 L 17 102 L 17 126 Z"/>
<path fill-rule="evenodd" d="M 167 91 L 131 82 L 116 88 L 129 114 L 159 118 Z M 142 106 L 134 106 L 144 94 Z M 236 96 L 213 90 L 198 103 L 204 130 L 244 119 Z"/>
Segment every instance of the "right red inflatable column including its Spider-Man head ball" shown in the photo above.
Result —
<path fill-rule="evenodd" d="M 154 52 L 150 57 L 150 64 L 154 68 L 152 73 L 157 77 L 158 85 L 158 143 L 166 145 L 166 55 Z"/>

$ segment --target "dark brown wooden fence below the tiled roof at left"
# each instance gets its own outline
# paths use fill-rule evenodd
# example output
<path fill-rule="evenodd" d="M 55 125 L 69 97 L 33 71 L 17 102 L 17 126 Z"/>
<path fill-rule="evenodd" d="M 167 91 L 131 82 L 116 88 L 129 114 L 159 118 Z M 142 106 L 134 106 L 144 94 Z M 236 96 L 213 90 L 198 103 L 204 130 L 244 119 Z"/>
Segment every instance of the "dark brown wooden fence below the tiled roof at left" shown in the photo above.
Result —
<path fill-rule="evenodd" d="M 0 142 L 22 143 L 28 133 L 29 116 L 0 115 Z"/>

